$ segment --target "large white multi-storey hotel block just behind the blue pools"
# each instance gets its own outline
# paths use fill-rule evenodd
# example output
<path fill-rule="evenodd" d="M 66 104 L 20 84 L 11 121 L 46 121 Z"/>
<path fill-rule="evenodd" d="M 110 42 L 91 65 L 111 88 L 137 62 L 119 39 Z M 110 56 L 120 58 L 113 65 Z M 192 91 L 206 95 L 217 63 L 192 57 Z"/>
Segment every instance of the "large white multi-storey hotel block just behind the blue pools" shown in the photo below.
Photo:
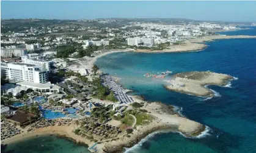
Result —
<path fill-rule="evenodd" d="M 25 80 L 34 83 L 48 82 L 48 71 L 28 63 L 1 63 L 1 76 L 10 80 Z"/>

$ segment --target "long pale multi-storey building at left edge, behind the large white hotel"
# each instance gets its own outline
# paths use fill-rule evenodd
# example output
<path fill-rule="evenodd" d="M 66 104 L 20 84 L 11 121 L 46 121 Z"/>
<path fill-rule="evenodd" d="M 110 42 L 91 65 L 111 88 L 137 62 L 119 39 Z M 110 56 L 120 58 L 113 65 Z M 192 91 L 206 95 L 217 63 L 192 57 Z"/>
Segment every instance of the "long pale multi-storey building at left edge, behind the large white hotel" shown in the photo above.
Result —
<path fill-rule="evenodd" d="M 1 48 L 1 57 L 12 57 L 27 55 L 26 49 L 16 49 L 16 48 Z"/>

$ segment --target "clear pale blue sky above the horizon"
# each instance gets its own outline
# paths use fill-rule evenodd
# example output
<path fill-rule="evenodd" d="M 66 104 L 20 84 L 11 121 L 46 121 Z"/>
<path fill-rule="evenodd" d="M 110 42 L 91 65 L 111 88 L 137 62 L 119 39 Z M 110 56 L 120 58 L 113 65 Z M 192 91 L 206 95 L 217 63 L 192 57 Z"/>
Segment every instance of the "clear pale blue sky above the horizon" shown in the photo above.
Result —
<path fill-rule="evenodd" d="M 256 22 L 256 1 L 1 1 L 1 19 L 187 18 Z"/>

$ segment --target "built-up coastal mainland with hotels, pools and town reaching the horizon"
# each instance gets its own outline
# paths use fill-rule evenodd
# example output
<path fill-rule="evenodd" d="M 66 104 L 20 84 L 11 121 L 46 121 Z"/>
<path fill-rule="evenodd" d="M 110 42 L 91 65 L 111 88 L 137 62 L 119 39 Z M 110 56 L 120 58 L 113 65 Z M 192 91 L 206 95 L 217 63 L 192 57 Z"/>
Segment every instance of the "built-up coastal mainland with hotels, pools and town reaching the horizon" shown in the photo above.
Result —
<path fill-rule="evenodd" d="M 166 125 L 169 121 L 153 114 L 163 110 L 162 113 L 174 115 L 172 107 L 146 104 L 131 96 L 118 84 L 118 77 L 102 73 L 93 64 L 97 57 L 115 51 L 186 51 L 189 49 L 184 46 L 192 46 L 199 38 L 225 37 L 216 32 L 241 30 L 244 25 L 255 23 L 183 19 L 1 20 L 1 142 L 8 143 L 42 128 L 65 127 L 73 132 L 70 137 L 98 152 L 107 149 L 105 142 L 143 131 L 138 130 L 140 126 L 146 130 L 145 125 L 152 129 Z M 204 47 L 195 46 L 192 50 Z M 205 128 L 193 124 L 197 129 L 179 130 L 192 135 Z"/>

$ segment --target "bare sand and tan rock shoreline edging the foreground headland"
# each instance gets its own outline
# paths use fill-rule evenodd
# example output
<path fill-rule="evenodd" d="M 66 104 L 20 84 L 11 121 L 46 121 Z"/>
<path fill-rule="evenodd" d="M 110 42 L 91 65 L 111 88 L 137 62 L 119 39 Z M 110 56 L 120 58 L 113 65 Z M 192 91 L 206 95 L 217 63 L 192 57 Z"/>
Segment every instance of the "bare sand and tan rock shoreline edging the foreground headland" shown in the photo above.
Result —
<path fill-rule="evenodd" d="M 145 102 L 139 99 L 140 102 Z M 147 110 L 150 116 L 153 116 L 153 120 L 150 124 L 145 126 L 137 126 L 134 132 L 131 133 L 131 137 L 126 137 L 123 135 L 118 135 L 114 140 L 102 140 L 99 141 L 97 145 L 99 152 L 118 152 L 122 151 L 123 147 L 132 147 L 134 144 L 141 141 L 142 138 L 147 137 L 148 134 L 155 132 L 156 130 L 170 130 L 172 132 L 181 132 L 188 137 L 195 137 L 200 135 L 205 126 L 196 121 L 191 121 L 190 119 L 181 117 L 174 113 L 174 107 L 168 107 L 167 105 L 161 104 L 159 102 L 145 102 L 142 109 Z M 71 138 L 71 140 L 76 143 L 84 143 L 87 146 L 92 146 L 93 141 L 82 138 L 79 135 L 75 135 L 73 130 L 77 126 L 71 124 L 70 126 L 49 126 L 40 129 L 35 129 L 34 132 L 24 132 L 14 137 L 7 138 L 1 141 L 1 144 L 10 144 L 16 141 L 26 140 L 27 138 L 37 137 L 38 135 L 56 135 L 59 134 L 62 137 Z M 26 130 L 25 130 L 26 131 Z"/>

